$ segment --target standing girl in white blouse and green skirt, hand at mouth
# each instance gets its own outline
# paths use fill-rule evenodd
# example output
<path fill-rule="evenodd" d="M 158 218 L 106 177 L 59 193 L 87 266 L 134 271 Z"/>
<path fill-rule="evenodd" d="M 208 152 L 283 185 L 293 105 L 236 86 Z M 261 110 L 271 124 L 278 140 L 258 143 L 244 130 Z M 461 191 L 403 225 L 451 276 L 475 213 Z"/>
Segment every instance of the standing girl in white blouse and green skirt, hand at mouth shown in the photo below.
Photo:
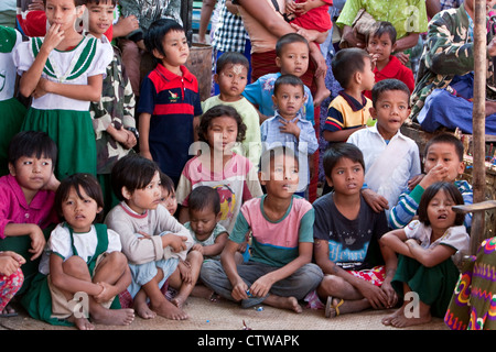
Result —
<path fill-rule="evenodd" d="M 32 37 L 14 51 L 20 92 L 33 97 L 22 130 L 46 132 L 58 146 L 55 176 L 96 175 L 96 145 L 89 102 L 101 96 L 112 48 L 83 36 L 75 23 L 83 0 L 46 0 L 50 23 L 45 37 Z"/>

